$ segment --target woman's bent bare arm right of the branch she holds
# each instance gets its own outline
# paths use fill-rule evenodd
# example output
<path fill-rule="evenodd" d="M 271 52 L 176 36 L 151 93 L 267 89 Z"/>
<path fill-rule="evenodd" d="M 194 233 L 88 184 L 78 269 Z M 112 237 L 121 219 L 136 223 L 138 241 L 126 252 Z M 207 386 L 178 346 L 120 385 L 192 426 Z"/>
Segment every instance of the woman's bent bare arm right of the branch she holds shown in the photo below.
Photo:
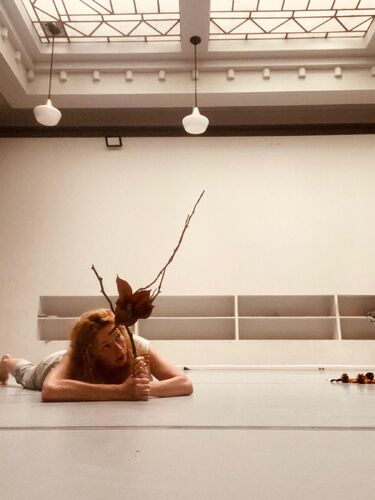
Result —
<path fill-rule="evenodd" d="M 151 374 L 157 378 L 150 382 L 150 396 L 188 396 L 193 393 L 193 384 L 185 374 L 150 349 Z"/>

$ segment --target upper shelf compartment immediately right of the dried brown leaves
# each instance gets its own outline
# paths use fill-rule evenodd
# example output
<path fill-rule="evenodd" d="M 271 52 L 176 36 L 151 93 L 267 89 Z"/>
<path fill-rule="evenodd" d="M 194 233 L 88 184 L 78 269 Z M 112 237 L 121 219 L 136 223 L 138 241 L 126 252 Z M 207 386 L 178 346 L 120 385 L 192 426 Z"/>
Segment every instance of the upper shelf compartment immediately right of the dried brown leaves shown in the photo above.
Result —
<path fill-rule="evenodd" d="M 232 317 L 233 295 L 159 296 L 155 300 L 153 317 Z"/>

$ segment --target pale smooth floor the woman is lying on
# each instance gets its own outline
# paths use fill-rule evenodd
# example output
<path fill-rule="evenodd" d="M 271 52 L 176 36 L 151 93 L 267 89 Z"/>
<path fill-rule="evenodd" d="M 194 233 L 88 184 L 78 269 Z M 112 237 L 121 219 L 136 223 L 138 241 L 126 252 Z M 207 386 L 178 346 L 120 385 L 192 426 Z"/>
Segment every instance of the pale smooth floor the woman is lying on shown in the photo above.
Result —
<path fill-rule="evenodd" d="M 340 372 L 188 372 L 191 397 L 41 403 L 0 388 L 0 497 L 373 498 L 375 385 Z M 355 373 L 352 373 L 355 375 Z"/>

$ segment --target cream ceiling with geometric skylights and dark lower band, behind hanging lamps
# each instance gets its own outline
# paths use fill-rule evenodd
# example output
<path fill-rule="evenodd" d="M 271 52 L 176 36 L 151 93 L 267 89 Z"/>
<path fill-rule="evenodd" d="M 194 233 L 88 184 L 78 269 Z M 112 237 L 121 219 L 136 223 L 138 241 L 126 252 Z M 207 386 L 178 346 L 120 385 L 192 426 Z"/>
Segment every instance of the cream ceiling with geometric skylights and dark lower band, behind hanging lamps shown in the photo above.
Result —
<path fill-rule="evenodd" d="M 373 132 L 375 0 L 0 0 L 0 134 Z M 35 122 L 48 93 L 63 118 Z"/>

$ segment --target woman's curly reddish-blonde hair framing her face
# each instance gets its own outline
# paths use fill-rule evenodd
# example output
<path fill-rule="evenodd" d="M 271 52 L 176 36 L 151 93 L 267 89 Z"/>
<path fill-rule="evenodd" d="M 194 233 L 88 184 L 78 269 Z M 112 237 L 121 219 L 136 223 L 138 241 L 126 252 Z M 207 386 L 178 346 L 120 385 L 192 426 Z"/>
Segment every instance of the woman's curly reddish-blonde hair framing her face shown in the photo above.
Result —
<path fill-rule="evenodd" d="M 108 324 L 115 324 L 115 316 L 110 309 L 97 309 L 82 314 L 79 321 L 70 332 L 70 376 L 73 380 L 81 380 L 91 384 L 105 383 L 103 371 L 98 365 L 92 347 L 97 333 Z M 129 339 L 125 335 L 124 328 L 118 326 L 124 335 L 128 355 Z"/>

